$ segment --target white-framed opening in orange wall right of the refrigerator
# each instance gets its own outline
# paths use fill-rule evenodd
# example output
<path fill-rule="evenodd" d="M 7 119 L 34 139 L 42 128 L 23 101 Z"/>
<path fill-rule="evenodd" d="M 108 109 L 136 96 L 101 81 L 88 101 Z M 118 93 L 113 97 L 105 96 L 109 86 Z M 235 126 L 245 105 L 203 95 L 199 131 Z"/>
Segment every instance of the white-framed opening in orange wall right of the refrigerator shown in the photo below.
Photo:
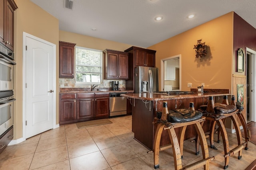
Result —
<path fill-rule="evenodd" d="M 181 55 L 161 60 L 161 91 L 180 91 Z"/>

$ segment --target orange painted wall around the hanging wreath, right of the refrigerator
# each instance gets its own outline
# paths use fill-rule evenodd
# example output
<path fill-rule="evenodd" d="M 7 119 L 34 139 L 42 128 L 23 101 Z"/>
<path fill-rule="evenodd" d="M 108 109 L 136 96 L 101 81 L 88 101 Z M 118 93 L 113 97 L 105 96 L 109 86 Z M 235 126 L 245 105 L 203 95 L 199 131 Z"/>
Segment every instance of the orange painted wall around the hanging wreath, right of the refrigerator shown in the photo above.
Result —
<path fill-rule="evenodd" d="M 196 58 L 193 49 L 199 39 L 210 46 L 207 56 L 202 59 Z M 233 12 L 166 39 L 148 49 L 156 50 L 156 67 L 159 70 L 161 70 L 161 59 L 181 54 L 181 90 L 190 91 L 187 87 L 188 83 L 192 83 L 192 88 L 197 88 L 202 82 L 205 88 L 232 90 Z M 160 87 L 161 81 L 160 79 Z"/>

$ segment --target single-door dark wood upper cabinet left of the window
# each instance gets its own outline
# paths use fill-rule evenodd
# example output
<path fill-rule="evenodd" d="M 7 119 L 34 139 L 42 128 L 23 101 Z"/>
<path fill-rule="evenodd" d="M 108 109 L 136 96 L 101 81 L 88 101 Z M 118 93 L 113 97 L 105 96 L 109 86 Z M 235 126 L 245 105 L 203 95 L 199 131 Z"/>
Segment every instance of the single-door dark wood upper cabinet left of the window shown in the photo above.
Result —
<path fill-rule="evenodd" d="M 76 44 L 59 41 L 60 78 L 74 78 L 74 49 Z"/>

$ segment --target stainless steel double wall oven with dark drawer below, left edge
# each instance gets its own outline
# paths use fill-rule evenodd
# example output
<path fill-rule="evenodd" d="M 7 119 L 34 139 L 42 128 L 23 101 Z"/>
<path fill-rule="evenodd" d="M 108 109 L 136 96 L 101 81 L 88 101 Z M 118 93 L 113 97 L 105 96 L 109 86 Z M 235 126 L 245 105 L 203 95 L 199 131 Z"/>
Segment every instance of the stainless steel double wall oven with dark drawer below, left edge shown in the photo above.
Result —
<path fill-rule="evenodd" d="M 14 53 L 0 43 L 0 153 L 13 139 Z"/>

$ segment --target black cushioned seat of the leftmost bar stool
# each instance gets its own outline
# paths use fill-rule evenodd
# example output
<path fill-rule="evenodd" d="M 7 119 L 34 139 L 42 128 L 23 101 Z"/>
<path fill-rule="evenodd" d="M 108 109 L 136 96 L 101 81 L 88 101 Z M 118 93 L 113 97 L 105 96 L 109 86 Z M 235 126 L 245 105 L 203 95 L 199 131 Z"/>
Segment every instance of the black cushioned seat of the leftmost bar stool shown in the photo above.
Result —
<path fill-rule="evenodd" d="M 169 110 L 168 121 L 172 123 L 184 123 L 200 119 L 203 113 L 189 109 Z"/>

